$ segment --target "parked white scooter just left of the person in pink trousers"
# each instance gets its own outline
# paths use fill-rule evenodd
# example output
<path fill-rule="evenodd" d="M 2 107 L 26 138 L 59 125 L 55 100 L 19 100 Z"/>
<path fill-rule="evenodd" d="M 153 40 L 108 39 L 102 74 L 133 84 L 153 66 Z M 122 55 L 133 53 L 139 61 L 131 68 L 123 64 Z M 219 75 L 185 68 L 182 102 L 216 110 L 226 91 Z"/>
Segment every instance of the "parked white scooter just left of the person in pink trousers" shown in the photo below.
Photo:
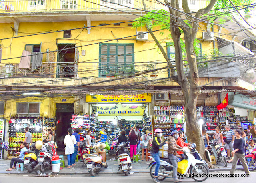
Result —
<path fill-rule="evenodd" d="M 128 171 L 132 169 L 132 165 L 131 165 L 130 153 L 127 147 L 125 147 L 126 143 L 125 142 L 119 143 L 116 152 L 118 152 L 118 157 L 117 157 L 117 163 L 119 166 L 118 170 L 121 170 L 121 172 L 124 172 L 125 176 L 128 176 Z"/>

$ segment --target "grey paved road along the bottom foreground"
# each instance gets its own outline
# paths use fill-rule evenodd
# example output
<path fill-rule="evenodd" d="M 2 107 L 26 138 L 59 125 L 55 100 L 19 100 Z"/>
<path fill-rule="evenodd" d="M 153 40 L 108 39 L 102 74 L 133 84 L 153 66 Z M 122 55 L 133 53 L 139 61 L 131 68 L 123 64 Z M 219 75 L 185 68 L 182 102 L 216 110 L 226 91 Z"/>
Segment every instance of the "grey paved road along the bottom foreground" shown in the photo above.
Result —
<path fill-rule="evenodd" d="M 219 173 L 219 172 L 212 172 Z M 228 171 L 222 171 L 221 173 L 229 173 Z M 242 174 L 244 171 L 236 171 L 235 173 Z M 220 177 L 209 177 L 204 181 L 205 183 L 252 183 L 255 182 L 256 171 L 251 172 L 250 177 L 236 177 L 236 178 L 220 178 Z M 162 183 L 169 183 L 172 178 L 167 178 Z M 136 173 L 130 174 L 128 177 L 124 175 L 107 175 L 98 174 L 96 177 L 90 177 L 90 175 L 54 175 L 54 177 L 33 177 L 26 175 L 10 175 L 1 174 L 0 183 L 72 183 L 72 182 L 91 182 L 91 183 L 154 183 L 148 173 Z M 192 178 L 183 179 L 184 183 L 195 183 Z"/>

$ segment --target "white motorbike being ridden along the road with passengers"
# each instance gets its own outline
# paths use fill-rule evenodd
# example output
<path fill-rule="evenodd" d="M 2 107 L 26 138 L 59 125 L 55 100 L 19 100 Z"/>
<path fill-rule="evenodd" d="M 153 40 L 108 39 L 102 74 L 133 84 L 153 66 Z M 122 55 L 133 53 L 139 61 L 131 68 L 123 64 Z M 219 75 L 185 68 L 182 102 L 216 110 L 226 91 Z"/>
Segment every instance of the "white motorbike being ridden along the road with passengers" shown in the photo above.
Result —
<path fill-rule="evenodd" d="M 190 150 L 188 147 L 183 147 L 184 155 L 186 156 L 186 160 L 188 161 L 188 166 L 186 168 L 186 173 L 190 174 L 203 174 L 209 173 L 208 164 L 206 161 L 202 160 L 201 155 L 196 150 L 196 144 L 192 143 L 190 146 L 192 149 Z M 152 156 L 149 156 L 149 159 L 152 160 L 148 168 L 150 167 L 150 175 L 154 178 L 156 161 Z M 158 180 L 163 181 L 166 177 L 172 177 L 173 166 L 168 158 L 160 158 L 160 168 L 158 172 Z M 205 181 L 208 177 L 200 177 L 200 176 L 192 176 L 192 179 L 198 182 Z"/>

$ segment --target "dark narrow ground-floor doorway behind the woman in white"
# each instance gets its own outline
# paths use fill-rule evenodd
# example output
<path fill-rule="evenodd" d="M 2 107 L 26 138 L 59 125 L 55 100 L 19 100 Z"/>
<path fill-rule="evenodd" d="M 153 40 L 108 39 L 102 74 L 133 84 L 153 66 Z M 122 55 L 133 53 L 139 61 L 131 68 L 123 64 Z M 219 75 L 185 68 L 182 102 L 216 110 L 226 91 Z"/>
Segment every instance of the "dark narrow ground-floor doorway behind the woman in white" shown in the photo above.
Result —
<path fill-rule="evenodd" d="M 74 113 L 74 103 L 56 103 L 56 120 L 60 121 L 56 124 L 55 141 L 58 144 L 57 151 L 65 151 L 64 138 L 68 134 L 70 128 L 72 114 Z"/>

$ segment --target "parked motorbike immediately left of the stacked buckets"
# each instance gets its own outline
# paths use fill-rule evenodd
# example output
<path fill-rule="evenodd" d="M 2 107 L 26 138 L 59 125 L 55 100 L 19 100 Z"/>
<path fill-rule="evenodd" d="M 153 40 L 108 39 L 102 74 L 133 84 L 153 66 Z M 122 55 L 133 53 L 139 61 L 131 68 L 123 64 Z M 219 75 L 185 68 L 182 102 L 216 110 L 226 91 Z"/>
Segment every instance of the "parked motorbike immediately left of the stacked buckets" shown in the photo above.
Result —
<path fill-rule="evenodd" d="M 38 166 L 43 173 L 47 167 L 52 170 L 52 156 L 56 155 L 56 147 L 53 143 L 46 144 L 47 151 L 39 151 Z"/>

